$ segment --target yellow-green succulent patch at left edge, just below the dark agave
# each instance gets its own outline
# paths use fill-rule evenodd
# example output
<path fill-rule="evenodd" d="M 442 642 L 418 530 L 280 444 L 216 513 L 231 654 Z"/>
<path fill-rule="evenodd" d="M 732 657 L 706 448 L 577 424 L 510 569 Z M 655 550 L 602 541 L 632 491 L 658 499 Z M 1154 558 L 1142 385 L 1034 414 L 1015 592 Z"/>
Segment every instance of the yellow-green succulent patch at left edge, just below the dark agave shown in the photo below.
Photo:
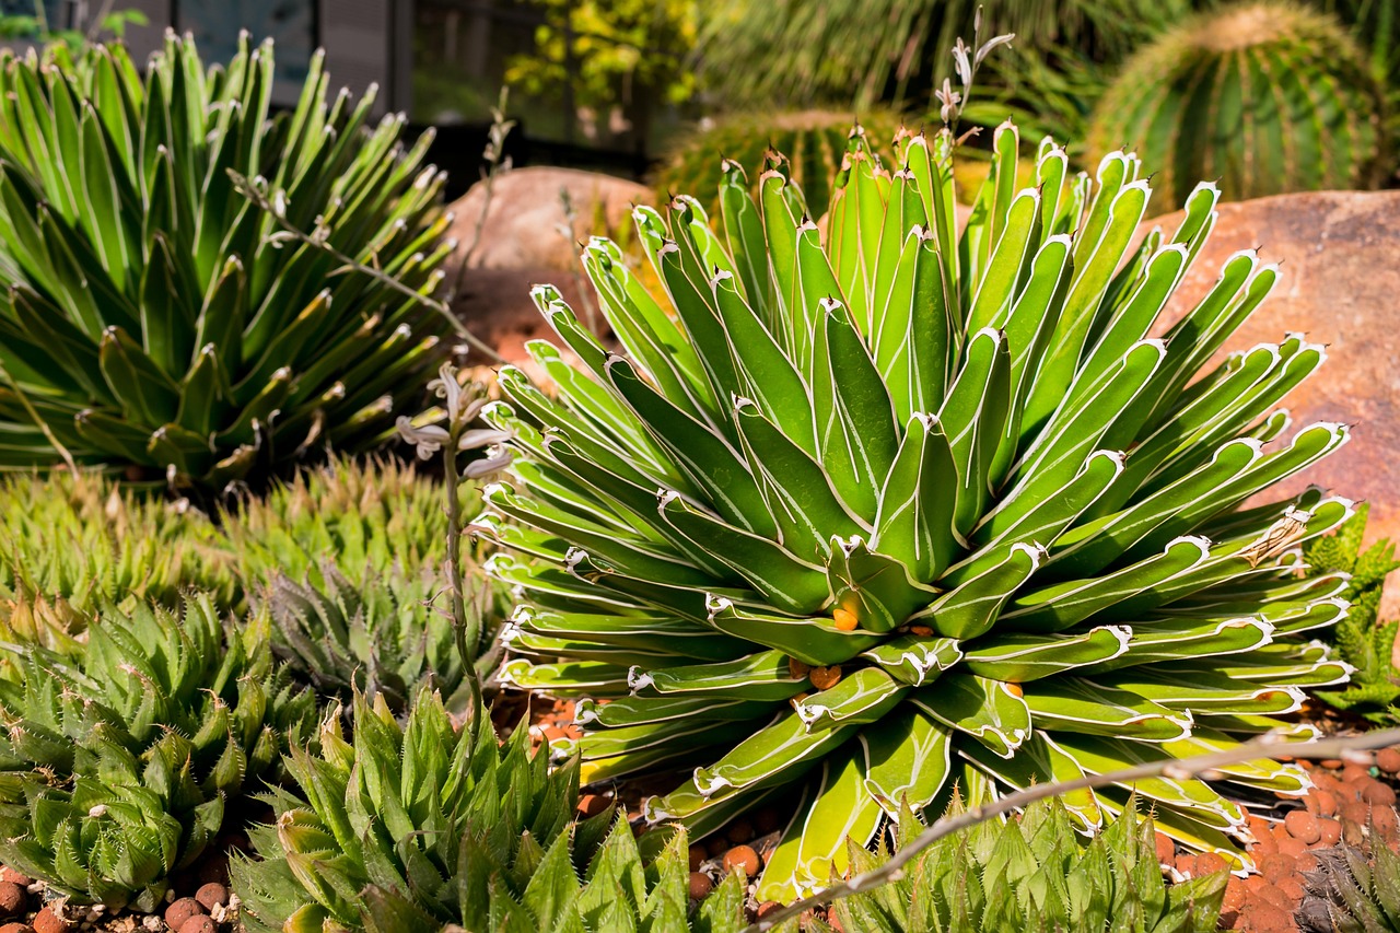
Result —
<path fill-rule="evenodd" d="M 0 633 L 73 650 L 106 602 L 174 607 L 188 587 L 231 602 L 223 539 L 186 506 L 88 474 L 0 479 Z"/>

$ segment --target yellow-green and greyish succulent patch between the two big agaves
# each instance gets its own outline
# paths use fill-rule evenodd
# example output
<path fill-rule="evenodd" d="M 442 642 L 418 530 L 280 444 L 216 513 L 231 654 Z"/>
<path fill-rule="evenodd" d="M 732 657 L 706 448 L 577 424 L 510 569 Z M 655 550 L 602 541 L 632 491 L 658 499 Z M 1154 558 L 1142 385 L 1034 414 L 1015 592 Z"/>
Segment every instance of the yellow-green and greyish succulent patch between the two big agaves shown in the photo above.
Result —
<path fill-rule="evenodd" d="M 479 504 L 459 488 L 462 509 Z M 421 685 L 466 703 L 448 615 L 445 486 L 393 461 L 301 471 L 224 516 L 249 601 L 273 621 L 274 651 L 318 692 L 385 695 L 402 710 Z M 466 511 L 470 514 L 470 511 Z M 491 644 L 507 609 L 475 555 L 465 608 Z"/>

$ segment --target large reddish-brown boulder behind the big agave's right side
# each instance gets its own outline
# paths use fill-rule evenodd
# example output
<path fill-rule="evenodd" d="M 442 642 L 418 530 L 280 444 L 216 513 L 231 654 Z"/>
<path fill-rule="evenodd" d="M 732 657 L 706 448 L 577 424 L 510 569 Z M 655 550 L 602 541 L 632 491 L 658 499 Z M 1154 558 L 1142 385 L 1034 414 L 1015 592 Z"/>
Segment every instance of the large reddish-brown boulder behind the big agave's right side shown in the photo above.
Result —
<path fill-rule="evenodd" d="M 1168 214 L 1147 227 L 1159 224 L 1170 234 L 1179 220 Z M 1326 343 L 1322 370 L 1284 403 L 1295 429 L 1322 420 L 1354 426 L 1351 443 L 1295 476 L 1285 492 L 1317 483 L 1368 500 L 1368 541 L 1400 541 L 1400 192 L 1316 192 L 1222 205 L 1210 242 L 1162 322 L 1180 318 L 1225 259 L 1249 248 L 1280 263 L 1282 275 L 1221 356 L 1277 343 L 1287 331 Z M 1382 614 L 1400 615 L 1400 580 L 1392 579 Z"/>

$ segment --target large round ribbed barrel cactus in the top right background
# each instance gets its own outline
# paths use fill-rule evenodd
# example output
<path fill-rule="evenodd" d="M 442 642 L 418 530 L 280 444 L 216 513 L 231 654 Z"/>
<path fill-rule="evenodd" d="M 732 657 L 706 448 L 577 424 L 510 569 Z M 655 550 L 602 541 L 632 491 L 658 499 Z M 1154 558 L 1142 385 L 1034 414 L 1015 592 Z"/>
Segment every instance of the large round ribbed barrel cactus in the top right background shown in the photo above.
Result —
<path fill-rule="evenodd" d="M 1137 147 L 1163 210 L 1200 178 L 1231 200 L 1375 188 L 1380 111 L 1379 81 L 1336 18 L 1264 0 L 1198 14 L 1138 52 L 1100 99 L 1089 150 Z"/>

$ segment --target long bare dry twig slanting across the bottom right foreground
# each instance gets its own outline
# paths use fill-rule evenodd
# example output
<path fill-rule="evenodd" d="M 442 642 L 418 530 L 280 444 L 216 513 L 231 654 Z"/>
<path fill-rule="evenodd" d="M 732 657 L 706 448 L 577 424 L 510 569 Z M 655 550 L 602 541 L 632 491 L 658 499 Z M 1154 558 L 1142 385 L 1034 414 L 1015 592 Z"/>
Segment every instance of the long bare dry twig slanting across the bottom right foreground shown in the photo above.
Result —
<path fill-rule="evenodd" d="M 1341 758 L 1345 761 L 1358 751 L 1385 748 L 1396 744 L 1400 744 L 1400 728 L 1386 728 L 1375 733 L 1362 733 L 1359 735 L 1315 738 L 1303 742 L 1287 741 L 1280 735 L 1266 734 L 1253 741 L 1245 742 L 1238 748 L 1211 752 L 1208 755 L 1155 761 L 1145 765 L 1124 768 L 1123 770 L 1109 772 L 1106 775 L 1089 775 L 1058 785 L 1035 785 L 1032 787 L 1026 787 L 1025 790 L 1007 794 L 993 803 L 983 804 L 981 807 L 972 807 L 966 813 L 958 814 L 956 817 L 938 820 L 878 869 L 858 874 L 854 878 L 847 878 L 840 884 L 833 884 L 832 887 L 818 891 L 808 898 L 802 898 L 801 901 L 795 901 L 785 908 L 774 911 L 773 913 L 769 913 L 763 919 L 745 927 L 743 933 L 764 933 L 764 930 L 771 930 L 778 923 L 801 916 L 804 912 L 811 911 L 815 906 L 822 906 L 823 904 L 830 904 L 832 901 L 839 901 L 841 898 L 848 898 L 853 894 L 868 891 L 879 884 L 883 884 L 885 881 L 897 881 L 903 876 L 904 866 L 909 864 L 914 856 L 944 836 L 974 827 L 984 820 L 1000 817 L 1004 813 L 1022 810 L 1036 800 L 1057 797 L 1074 790 L 1106 787 L 1109 785 L 1130 785 L 1145 778 L 1172 778 L 1180 780 L 1184 778 L 1210 776 L 1210 772 L 1226 765 L 1238 765 L 1240 762 L 1256 761 L 1260 758 L 1273 758 L 1278 754 L 1287 754 L 1292 758 Z"/>

